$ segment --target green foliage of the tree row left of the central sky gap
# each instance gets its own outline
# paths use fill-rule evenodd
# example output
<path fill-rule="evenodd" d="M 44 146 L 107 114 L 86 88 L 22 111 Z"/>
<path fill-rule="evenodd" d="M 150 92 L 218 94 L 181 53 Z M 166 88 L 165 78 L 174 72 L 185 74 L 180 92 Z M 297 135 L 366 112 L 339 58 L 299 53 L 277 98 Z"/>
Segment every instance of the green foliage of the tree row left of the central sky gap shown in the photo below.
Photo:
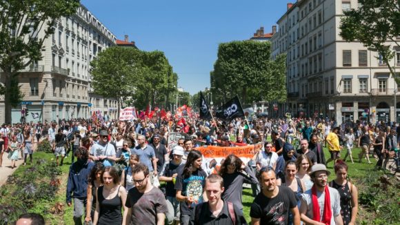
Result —
<path fill-rule="evenodd" d="M 176 90 L 177 74 L 163 52 L 115 46 L 99 53 L 90 65 L 94 92 L 116 97 L 119 104 L 154 106 Z"/>

